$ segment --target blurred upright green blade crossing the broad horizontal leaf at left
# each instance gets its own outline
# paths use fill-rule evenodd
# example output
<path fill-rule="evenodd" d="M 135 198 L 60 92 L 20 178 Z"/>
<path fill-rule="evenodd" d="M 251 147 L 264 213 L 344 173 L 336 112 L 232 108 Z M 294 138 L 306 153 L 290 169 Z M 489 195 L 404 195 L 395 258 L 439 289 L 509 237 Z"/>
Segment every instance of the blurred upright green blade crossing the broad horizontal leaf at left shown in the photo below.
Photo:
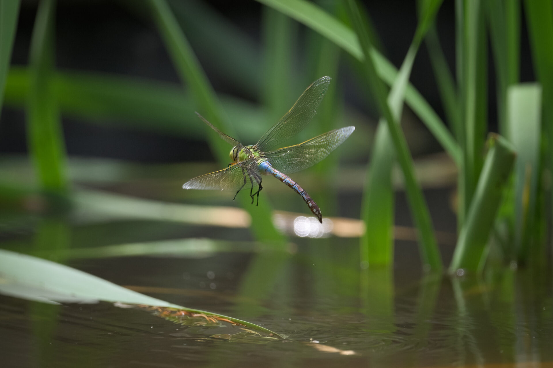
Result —
<path fill-rule="evenodd" d="M 28 146 L 40 186 L 52 193 L 67 190 L 65 145 L 51 83 L 54 68 L 55 2 L 39 3 L 30 45 L 27 103 Z"/>

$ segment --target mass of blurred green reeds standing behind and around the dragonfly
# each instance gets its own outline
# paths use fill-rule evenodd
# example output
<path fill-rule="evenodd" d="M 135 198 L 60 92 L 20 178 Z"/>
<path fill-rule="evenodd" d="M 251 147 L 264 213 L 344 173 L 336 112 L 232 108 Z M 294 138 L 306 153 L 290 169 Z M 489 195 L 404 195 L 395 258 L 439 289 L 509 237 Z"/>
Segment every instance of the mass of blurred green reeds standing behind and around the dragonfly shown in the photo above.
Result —
<path fill-rule="evenodd" d="M 549 182 L 542 178 L 550 177 L 553 168 L 550 147 L 553 107 L 542 102 L 553 96 L 551 2 L 524 1 L 524 24 L 528 28 L 534 71 L 539 82 L 532 87 L 519 84 L 523 34 L 520 19 L 523 4 L 519 0 L 456 1 L 456 36 L 451 40 L 457 52 L 455 73 L 447 66 L 435 24 L 440 1 L 418 3 L 418 27 L 411 46 L 405 50 L 399 71 L 375 49 L 374 43 L 379 37 L 369 24 L 371 14 L 354 1 L 349 2 L 348 11 L 340 2 L 330 6 L 305 0 L 259 2 L 264 4 L 262 51 L 248 35 L 204 3 L 192 1 L 189 8 L 178 1 L 140 3 L 138 13 L 151 18 L 149 21 L 161 35 L 184 90 L 137 78 L 56 71 L 53 1 L 39 4 L 28 67 L 14 66 L 8 73 L 18 2 L 0 3 L 0 86 L 6 81 L 6 105 L 27 109 L 28 146 L 38 173 L 38 188 L 67 195 L 71 186 L 66 174 L 60 113 L 153 132 L 206 137 L 213 156 L 224 167 L 230 147 L 212 132 L 206 133 L 207 129 L 196 120 L 193 111 L 199 111 L 227 134 L 245 138 L 246 144 L 249 140 L 255 141 L 270 126 L 265 125 L 267 120 L 278 119 L 289 108 L 293 102 L 290 96 L 322 74 L 338 73 L 345 64 L 341 60 L 346 59 L 341 55 L 343 50 L 346 51 L 344 55 L 351 56 L 347 61 L 355 66 L 352 73 L 361 76 L 361 84 L 375 88 L 373 97 L 382 115 L 375 135 L 369 134 L 361 124 L 355 134 L 357 137 L 352 137 L 345 145 L 351 147 L 342 151 L 351 159 L 361 161 L 363 155 L 372 150 L 360 208 L 367 229 L 361 242 L 362 260 L 372 265 L 390 266 L 393 263 L 394 193 L 390 173 L 397 161 L 403 170 L 411 215 L 419 232 L 422 262 L 432 270 L 441 269 L 430 214 L 414 175 L 407 145 L 409 136 L 399 125 L 404 103 L 425 124 L 458 168 L 456 203 L 458 232 L 462 236 L 450 271 L 456 272 L 458 268 L 481 270 L 482 266 L 474 265 L 486 263 L 490 244 L 502 244 L 499 253 L 504 264 L 513 261 L 532 266 L 546 258 L 550 252 L 546 239 L 550 235 L 547 225 L 551 222 L 553 197 Z M 302 30 L 300 24 L 307 27 L 305 38 L 298 36 Z M 488 39 L 491 55 L 487 50 Z M 447 124 L 409 83 L 411 68 L 423 40 L 430 52 Z M 302 67 L 296 68 L 299 48 L 306 52 Z M 219 77 L 236 85 L 245 95 L 259 98 L 263 108 L 244 99 L 215 93 L 196 58 L 196 50 L 209 56 L 210 69 Z M 493 70 L 488 68 L 490 56 L 495 66 Z M 493 148 L 487 151 L 484 140 L 491 115 L 487 95 L 493 88 L 488 86 L 489 72 L 496 81 L 498 133 L 503 138 L 497 138 Z M 339 78 L 335 78 L 333 83 L 338 81 Z M 384 84 L 391 86 L 391 90 L 388 91 Z M 341 109 L 343 95 L 339 83 L 332 86 L 317 116 L 319 125 L 314 125 L 316 129 L 306 134 L 325 131 L 320 126 L 330 130 L 342 125 L 345 120 Z M 1 103 L 2 94 L 0 106 Z M 372 103 L 367 102 L 367 105 Z M 512 173 L 511 144 L 519 153 Z M 504 149 L 505 154 L 498 154 L 500 149 Z M 486 166 L 486 162 L 492 163 Z M 335 153 L 312 173 L 326 183 L 340 167 L 338 163 Z M 336 207 L 336 193 L 331 189 L 322 184 L 314 190 L 320 191 L 321 203 L 328 208 Z M 508 195 L 503 195 L 503 190 Z M 262 197 L 259 209 L 253 210 L 247 196 L 239 198 L 252 216 L 253 236 L 285 244 L 284 236 L 273 225 L 268 200 Z M 500 229 L 505 224 L 507 231 Z M 489 234 L 492 234 L 491 239 Z M 478 244 L 467 246 L 466 239 L 478 239 L 474 242 Z"/>

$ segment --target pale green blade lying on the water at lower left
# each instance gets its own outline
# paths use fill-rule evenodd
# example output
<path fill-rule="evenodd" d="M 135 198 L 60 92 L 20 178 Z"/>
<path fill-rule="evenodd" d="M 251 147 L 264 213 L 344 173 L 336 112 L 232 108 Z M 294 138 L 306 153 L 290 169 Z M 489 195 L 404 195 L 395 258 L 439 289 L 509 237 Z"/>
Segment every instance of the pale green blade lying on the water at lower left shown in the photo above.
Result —
<path fill-rule="evenodd" d="M 2 270 L 3 279 L 0 285 L 0 293 L 6 295 L 54 304 L 58 302 L 96 303 L 101 300 L 177 308 L 192 313 L 226 318 L 248 328 L 283 338 L 281 335 L 253 323 L 217 313 L 181 307 L 112 284 L 83 271 L 30 255 L 0 249 L 0 270 Z"/>

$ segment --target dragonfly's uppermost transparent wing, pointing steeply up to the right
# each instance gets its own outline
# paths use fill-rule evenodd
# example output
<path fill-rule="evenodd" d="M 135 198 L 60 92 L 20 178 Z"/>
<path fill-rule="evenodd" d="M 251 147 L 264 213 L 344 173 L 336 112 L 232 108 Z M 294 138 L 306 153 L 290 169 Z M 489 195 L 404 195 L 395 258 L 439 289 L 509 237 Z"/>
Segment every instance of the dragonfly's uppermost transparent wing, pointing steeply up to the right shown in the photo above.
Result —
<path fill-rule="evenodd" d="M 255 146 L 261 151 L 269 151 L 303 130 L 317 113 L 330 79 L 330 77 L 322 77 L 311 83 L 288 113 L 273 125 Z"/>

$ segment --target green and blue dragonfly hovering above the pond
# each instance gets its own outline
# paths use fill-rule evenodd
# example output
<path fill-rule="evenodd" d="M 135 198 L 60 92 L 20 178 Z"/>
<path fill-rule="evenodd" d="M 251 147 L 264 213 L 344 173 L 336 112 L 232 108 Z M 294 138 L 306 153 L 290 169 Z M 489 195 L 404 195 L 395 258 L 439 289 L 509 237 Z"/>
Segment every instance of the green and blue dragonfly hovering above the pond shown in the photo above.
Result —
<path fill-rule="evenodd" d="M 322 223 L 321 209 L 315 201 L 294 182 L 288 175 L 313 166 L 324 159 L 355 130 L 354 126 L 331 130 L 299 145 L 275 149 L 280 143 L 298 134 L 317 113 L 321 100 L 325 97 L 330 77 L 322 77 L 311 83 L 300 98 L 275 125 L 273 125 L 260 140 L 251 146 L 244 146 L 234 138 L 218 130 L 209 121 L 196 113 L 211 129 L 227 143 L 233 146 L 230 152 L 232 160 L 228 167 L 209 174 L 190 179 L 183 189 L 236 190 L 233 200 L 239 191 L 249 189 L 252 204 L 263 189 L 262 175 L 273 175 L 292 190 L 298 193 L 309 206 L 311 212 Z M 254 188 L 257 191 L 253 193 Z M 257 205 L 256 204 L 256 205 Z"/>

